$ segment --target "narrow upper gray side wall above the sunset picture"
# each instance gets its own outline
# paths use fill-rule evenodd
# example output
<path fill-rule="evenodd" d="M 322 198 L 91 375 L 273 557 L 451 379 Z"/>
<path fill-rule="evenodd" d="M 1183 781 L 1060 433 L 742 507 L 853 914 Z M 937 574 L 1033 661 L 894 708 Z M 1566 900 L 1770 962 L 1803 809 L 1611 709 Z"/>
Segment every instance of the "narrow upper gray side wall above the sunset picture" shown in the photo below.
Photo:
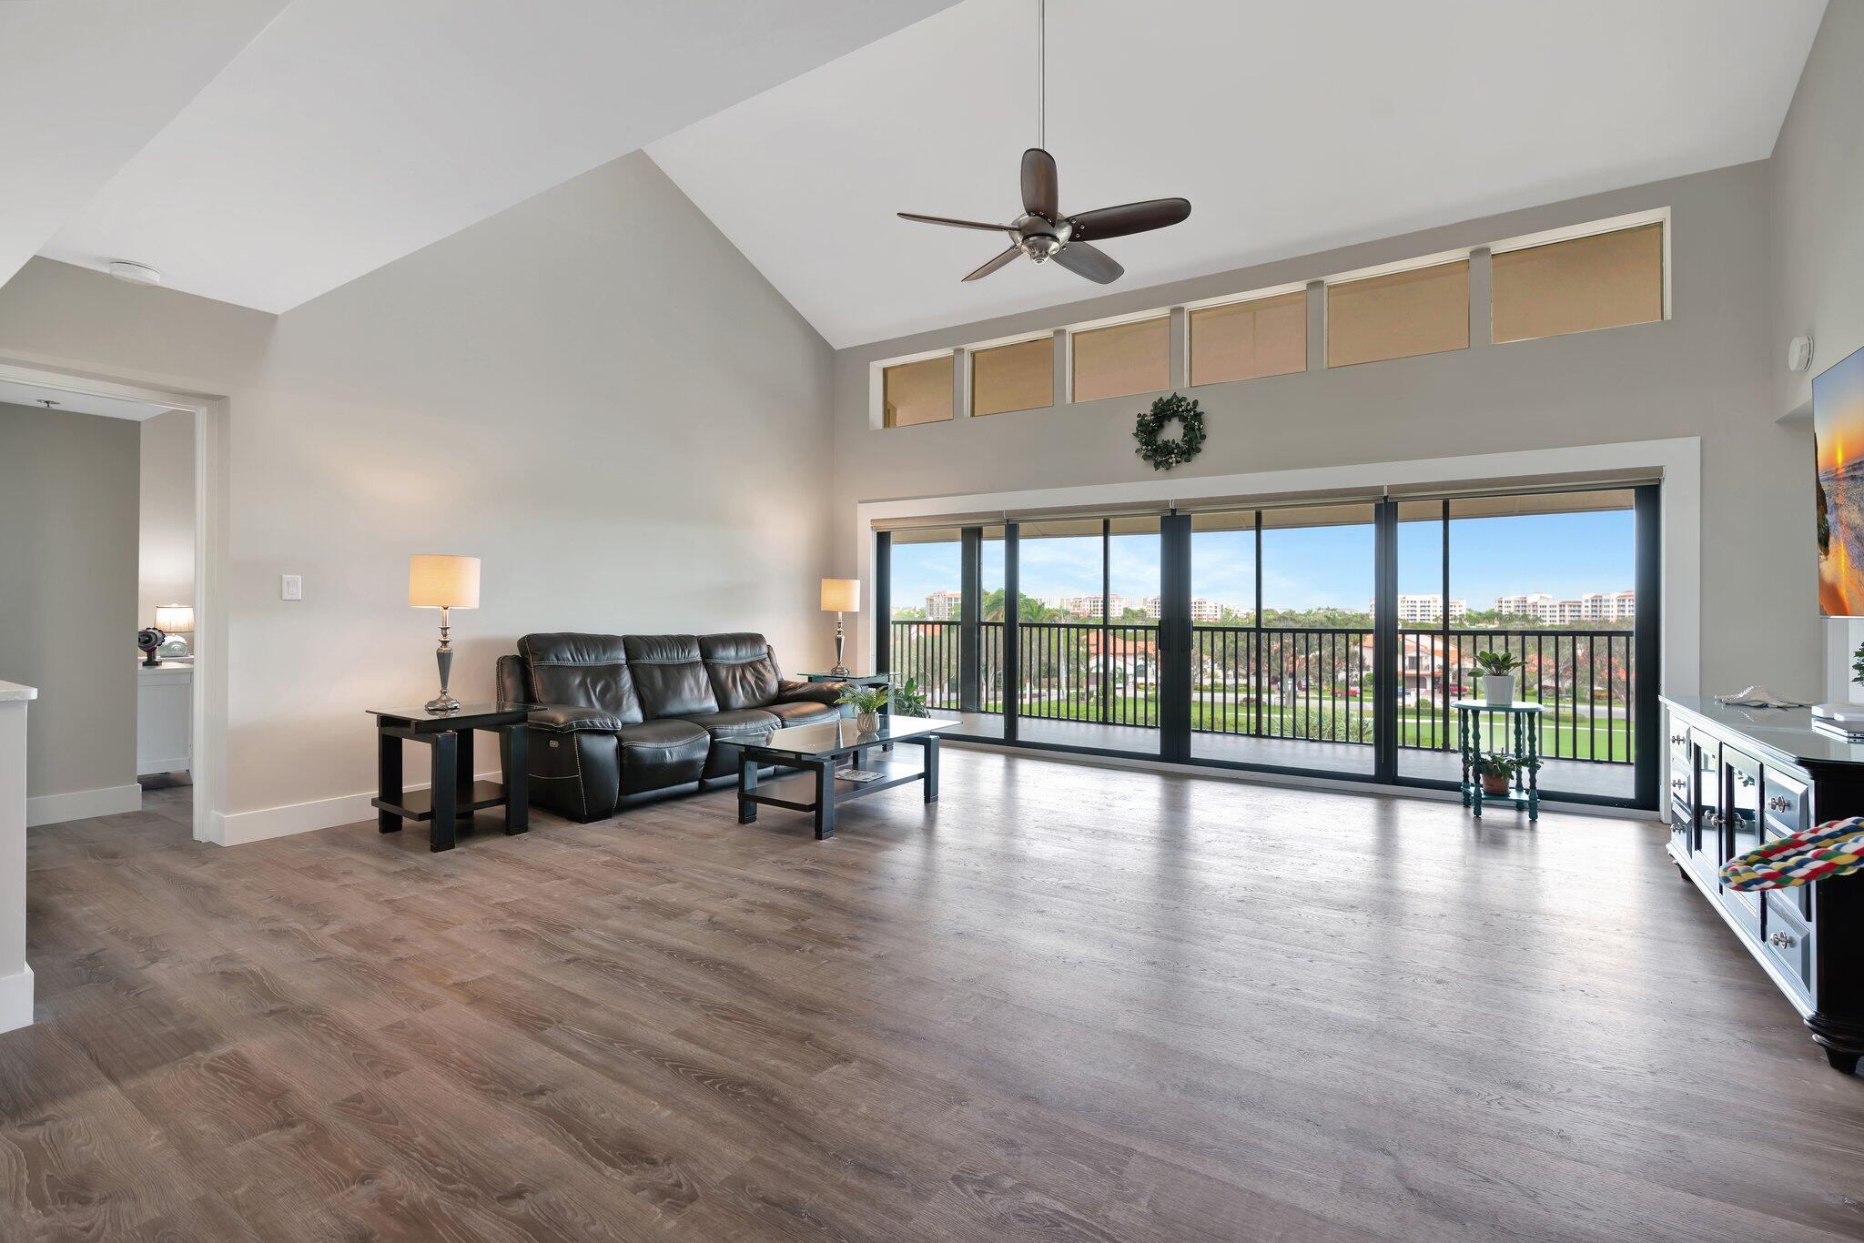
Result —
<path fill-rule="evenodd" d="M 1769 160 L 1775 322 L 1769 414 L 1812 401 L 1812 376 L 1864 347 L 1864 4 L 1832 0 Z M 1816 339 L 1812 367 L 1786 343 Z M 1804 462 L 1812 470 L 1812 458 Z"/>

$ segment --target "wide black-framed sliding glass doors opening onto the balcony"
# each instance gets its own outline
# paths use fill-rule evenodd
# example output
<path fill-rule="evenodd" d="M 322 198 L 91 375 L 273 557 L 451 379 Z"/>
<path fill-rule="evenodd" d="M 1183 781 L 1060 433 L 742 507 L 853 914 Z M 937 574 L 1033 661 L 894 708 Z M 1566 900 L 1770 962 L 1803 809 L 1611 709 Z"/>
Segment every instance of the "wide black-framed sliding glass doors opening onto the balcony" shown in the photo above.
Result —
<path fill-rule="evenodd" d="M 882 656 L 956 736 L 1454 786 L 1474 658 L 1542 790 L 1655 799 L 1657 488 L 1023 518 L 876 542 Z"/>

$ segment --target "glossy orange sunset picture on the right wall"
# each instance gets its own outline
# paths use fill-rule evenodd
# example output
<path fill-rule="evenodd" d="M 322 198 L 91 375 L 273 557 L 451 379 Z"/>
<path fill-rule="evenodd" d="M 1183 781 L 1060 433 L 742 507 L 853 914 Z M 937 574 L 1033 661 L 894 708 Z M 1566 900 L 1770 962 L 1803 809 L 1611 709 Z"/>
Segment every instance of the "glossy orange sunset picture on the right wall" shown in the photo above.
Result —
<path fill-rule="evenodd" d="M 1864 617 L 1864 350 L 1812 382 L 1819 613 Z"/>

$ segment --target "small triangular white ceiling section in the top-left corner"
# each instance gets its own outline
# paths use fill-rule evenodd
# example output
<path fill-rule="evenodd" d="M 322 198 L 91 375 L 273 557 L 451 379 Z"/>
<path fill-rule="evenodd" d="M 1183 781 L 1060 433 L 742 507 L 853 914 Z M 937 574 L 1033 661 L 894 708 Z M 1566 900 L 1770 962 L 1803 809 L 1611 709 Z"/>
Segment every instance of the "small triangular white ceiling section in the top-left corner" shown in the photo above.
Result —
<path fill-rule="evenodd" d="M 0 2 L 0 285 L 281 7 Z"/>

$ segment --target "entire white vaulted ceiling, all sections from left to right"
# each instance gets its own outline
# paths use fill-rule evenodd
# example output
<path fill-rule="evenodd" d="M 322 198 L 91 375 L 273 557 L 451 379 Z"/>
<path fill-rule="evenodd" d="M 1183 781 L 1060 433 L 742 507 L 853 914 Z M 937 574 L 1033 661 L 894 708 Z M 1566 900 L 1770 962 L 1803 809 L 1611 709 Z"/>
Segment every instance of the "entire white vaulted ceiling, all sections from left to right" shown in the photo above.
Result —
<path fill-rule="evenodd" d="M 1048 145 L 1068 211 L 1193 201 L 1107 242 L 1146 285 L 1761 158 L 1823 7 L 1049 0 Z M 0 281 L 285 311 L 647 145 L 837 347 L 1062 304 L 895 216 L 1016 214 L 1035 52 L 1035 0 L 4 0 Z"/>

